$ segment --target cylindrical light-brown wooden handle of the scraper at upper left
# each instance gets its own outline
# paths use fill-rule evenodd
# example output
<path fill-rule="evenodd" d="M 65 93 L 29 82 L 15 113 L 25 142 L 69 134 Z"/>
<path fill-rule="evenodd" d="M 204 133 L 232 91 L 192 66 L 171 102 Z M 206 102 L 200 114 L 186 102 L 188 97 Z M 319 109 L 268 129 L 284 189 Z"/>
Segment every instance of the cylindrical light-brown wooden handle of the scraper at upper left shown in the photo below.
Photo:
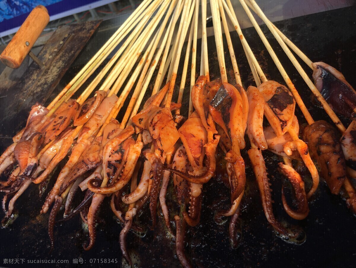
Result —
<path fill-rule="evenodd" d="M 0 60 L 10 68 L 19 68 L 48 22 L 49 15 L 46 7 L 36 6 L 1 53 Z"/>

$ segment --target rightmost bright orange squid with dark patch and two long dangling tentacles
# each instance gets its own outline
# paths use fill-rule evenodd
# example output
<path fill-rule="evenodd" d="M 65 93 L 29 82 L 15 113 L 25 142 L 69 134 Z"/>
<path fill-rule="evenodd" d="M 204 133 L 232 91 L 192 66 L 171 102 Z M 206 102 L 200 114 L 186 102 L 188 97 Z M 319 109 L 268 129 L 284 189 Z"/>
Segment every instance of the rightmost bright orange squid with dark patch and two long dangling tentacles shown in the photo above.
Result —
<path fill-rule="evenodd" d="M 295 154 L 297 149 L 294 146 L 294 142 L 298 143 L 299 140 L 293 141 L 288 133 L 289 128 L 293 128 L 295 133 L 299 133 L 298 120 L 294 115 L 295 100 L 286 87 L 283 87 L 275 81 L 263 82 L 258 88 L 252 86 L 248 87 L 247 96 L 249 104 L 251 105 L 249 109 L 249 127 L 247 133 L 253 144 L 252 148 L 248 150 L 248 155 L 260 189 L 263 210 L 268 222 L 279 233 L 287 235 L 288 232 L 286 228 L 277 222 L 273 215 L 271 189 L 269 188 L 266 165 L 261 150 L 268 148 L 272 152 L 283 156 L 285 162 L 290 157 L 301 159 L 300 153 L 298 155 Z M 273 114 L 264 114 L 266 110 L 272 110 Z M 272 122 L 272 124 L 269 127 L 265 127 L 265 129 L 263 129 L 262 125 L 263 115 L 266 115 L 268 122 L 270 119 Z M 276 133 L 279 133 L 279 135 Z M 293 148 L 290 148 L 291 146 Z M 300 144 L 299 146 L 303 145 Z M 284 209 L 290 217 L 302 220 L 307 217 L 309 212 L 304 181 L 298 172 L 293 169 L 290 160 L 288 160 L 286 164 L 279 163 L 279 169 L 292 183 L 298 206 L 298 209 L 295 211 L 289 207 L 286 202 L 286 197 L 284 196 L 284 188 L 282 187 Z"/>

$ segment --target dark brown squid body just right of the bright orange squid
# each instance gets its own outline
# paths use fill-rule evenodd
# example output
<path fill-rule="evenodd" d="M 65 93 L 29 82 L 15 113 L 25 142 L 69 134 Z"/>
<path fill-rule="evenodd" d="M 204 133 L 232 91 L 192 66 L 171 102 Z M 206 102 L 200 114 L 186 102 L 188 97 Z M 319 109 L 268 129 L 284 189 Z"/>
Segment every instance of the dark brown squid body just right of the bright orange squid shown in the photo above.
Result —
<path fill-rule="evenodd" d="M 318 162 L 321 175 L 331 193 L 339 194 L 346 179 L 345 156 L 339 142 L 339 133 L 328 122 L 319 120 L 304 129 L 303 140 Z"/>

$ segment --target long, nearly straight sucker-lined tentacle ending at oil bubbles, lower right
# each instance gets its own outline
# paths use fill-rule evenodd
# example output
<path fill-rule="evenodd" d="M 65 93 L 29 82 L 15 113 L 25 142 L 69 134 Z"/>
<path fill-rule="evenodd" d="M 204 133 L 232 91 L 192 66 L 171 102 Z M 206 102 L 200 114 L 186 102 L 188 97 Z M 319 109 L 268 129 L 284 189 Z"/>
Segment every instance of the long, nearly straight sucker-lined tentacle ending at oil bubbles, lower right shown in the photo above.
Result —
<path fill-rule="evenodd" d="M 287 235 L 288 231 L 281 225 L 281 223 L 276 220 L 273 214 L 271 188 L 269 188 L 266 164 L 265 160 L 263 159 L 261 150 L 257 148 L 251 148 L 247 151 L 247 153 L 251 160 L 253 171 L 255 172 L 258 189 L 260 190 L 262 207 L 263 211 L 265 212 L 267 221 L 277 232 L 283 235 Z"/>

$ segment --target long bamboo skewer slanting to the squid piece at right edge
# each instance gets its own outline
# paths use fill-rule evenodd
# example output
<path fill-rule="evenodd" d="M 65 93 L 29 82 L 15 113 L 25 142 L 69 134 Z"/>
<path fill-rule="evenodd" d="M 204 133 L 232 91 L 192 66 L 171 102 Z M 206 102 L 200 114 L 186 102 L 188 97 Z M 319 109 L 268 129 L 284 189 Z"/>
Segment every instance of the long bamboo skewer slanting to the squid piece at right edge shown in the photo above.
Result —
<path fill-rule="evenodd" d="M 271 25 L 271 22 L 268 21 L 267 17 L 265 16 L 265 14 L 263 14 L 262 10 L 260 9 L 260 7 L 256 4 L 256 2 L 254 0 L 251 0 L 250 2 L 252 4 L 252 6 L 256 9 L 258 15 L 265 22 L 268 29 L 272 32 L 273 36 L 276 38 L 279 45 L 282 47 L 283 51 L 287 54 L 289 60 L 293 63 L 294 67 L 297 69 L 300 76 L 302 76 L 305 83 L 307 83 L 308 87 L 313 92 L 316 99 L 321 103 L 321 105 L 323 105 L 325 112 L 328 113 L 329 117 L 331 118 L 331 120 L 333 120 L 336 127 L 339 128 L 341 132 L 345 132 L 345 130 L 346 130 L 345 126 L 341 123 L 340 119 L 337 117 L 337 115 L 334 113 L 334 111 L 330 108 L 329 104 L 326 102 L 326 100 L 323 98 L 323 96 L 321 96 L 320 92 L 315 87 L 314 83 L 310 80 L 307 73 L 305 73 L 302 66 L 300 66 L 299 62 L 294 57 L 292 52 L 289 50 L 286 43 L 284 43 L 281 36 L 279 36 L 278 33 L 276 32 L 276 30 L 273 28 L 273 26 Z"/>

